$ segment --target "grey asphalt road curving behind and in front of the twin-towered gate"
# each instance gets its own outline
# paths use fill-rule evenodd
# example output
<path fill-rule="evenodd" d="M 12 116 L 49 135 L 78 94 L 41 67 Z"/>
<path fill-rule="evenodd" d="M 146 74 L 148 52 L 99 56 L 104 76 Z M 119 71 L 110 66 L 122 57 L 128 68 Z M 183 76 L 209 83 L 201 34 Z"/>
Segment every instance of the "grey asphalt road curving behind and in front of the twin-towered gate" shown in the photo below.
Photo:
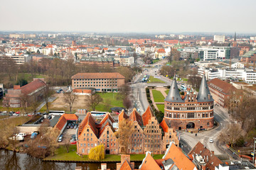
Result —
<path fill-rule="evenodd" d="M 156 64 L 151 64 L 151 67 L 146 67 L 142 74 L 134 77 L 134 84 L 132 87 L 132 95 L 134 96 L 134 103 L 137 103 L 137 109 L 139 113 L 144 113 L 146 108 L 149 106 L 149 102 L 146 98 L 146 86 L 170 86 L 171 79 L 167 79 L 166 77 L 161 77 L 159 75 L 159 65 L 163 65 L 166 60 L 161 62 L 157 62 Z M 142 65 L 141 61 L 137 62 L 138 65 Z M 157 67 L 155 67 L 157 65 Z M 141 83 L 143 76 L 145 74 L 149 74 L 150 76 L 158 77 L 162 81 L 166 82 L 165 84 L 146 84 Z M 197 134 L 191 134 L 189 132 L 181 132 L 181 144 L 185 147 L 184 152 L 188 152 L 189 149 L 193 148 L 199 141 L 205 145 L 211 151 L 214 151 L 215 154 L 224 154 L 225 152 L 219 146 L 218 136 L 220 132 L 225 129 L 231 123 L 231 120 L 228 115 L 228 111 L 220 106 L 214 106 L 214 116 L 215 121 L 218 122 L 218 126 L 213 128 L 212 130 L 201 131 Z M 213 139 L 213 143 L 210 143 L 209 140 Z M 188 145 L 188 146 L 187 146 Z"/>

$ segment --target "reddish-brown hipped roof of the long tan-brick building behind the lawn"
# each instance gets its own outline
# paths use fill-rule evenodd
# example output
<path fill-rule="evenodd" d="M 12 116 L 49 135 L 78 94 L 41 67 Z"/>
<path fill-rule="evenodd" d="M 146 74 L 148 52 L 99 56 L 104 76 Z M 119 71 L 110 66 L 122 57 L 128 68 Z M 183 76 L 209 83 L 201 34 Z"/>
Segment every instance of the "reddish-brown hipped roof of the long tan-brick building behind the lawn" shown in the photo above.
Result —
<path fill-rule="evenodd" d="M 125 77 L 118 72 L 102 72 L 102 73 L 78 73 L 71 79 L 124 79 Z"/>

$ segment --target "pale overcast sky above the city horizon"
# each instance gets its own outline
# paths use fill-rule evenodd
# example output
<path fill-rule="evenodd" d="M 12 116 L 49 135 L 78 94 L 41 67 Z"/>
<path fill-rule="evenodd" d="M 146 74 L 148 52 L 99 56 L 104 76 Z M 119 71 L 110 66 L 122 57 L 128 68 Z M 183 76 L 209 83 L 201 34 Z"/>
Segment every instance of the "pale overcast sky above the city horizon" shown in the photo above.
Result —
<path fill-rule="evenodd" d="M 0 30 L 256 33 L 255 0 L 1 0 Z"/>

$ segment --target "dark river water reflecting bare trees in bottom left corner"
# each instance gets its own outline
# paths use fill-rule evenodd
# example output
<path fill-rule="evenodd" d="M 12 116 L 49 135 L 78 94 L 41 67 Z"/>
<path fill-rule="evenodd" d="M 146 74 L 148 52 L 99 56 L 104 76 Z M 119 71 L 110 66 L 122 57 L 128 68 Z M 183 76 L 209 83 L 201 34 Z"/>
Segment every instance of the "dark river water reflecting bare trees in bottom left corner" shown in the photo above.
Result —
<path fill-rule="evenodd" d="M 135 163 L 135 168 L 139 167 L 140 163 Z M 75 170 L 75 166 L 82 166 L 82 170 L 97 170 L 100 169 L 100 164 L 95 163 L 57 163 L 43 162 L 41 159 L 31 157 L 27 154 L 20 154 L 9 150 L 0 150 L 0 169 L 1 170 Z M 117 164 L 107 163 L 107 169 L 117 169 Z"/>

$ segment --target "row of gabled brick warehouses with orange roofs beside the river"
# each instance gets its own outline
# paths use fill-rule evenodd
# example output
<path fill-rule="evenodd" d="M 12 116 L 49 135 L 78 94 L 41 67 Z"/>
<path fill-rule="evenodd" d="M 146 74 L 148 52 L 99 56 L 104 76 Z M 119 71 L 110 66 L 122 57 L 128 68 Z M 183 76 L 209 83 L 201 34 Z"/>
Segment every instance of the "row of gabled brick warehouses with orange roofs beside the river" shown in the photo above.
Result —
<path fill-rule="evenodd" d="M 175 142 L 178 146 L 178 137 L 174 129 L 169 128 L 165 120 L 159 125 L 151 108 L 147 108 L 142 115 L 139 115 L 135 108 L 129 115 L 122 111 L 118 116 L 118 121 L 123 119 L 134 122 L 135 130 L 129 137 L 129 154 L 144 154 L 147 151 L 164 154 L 170 142 Z M 124 146 L 119 145 L 118 137 L 114 135 L 114 132 L 118 130 L 113 128 L 114 123 L 116 122 L 110 113 L 107 113 L 100 123 L 97 123 L 92 115 L 87 113 L 78 128 L 78 154 L 89 154 L 90 149 L 101 144 L 105 145 L 106 154 L 123 152 Z M 164 130 L 164 135 L 162 135 L 162 130 Z"/>

